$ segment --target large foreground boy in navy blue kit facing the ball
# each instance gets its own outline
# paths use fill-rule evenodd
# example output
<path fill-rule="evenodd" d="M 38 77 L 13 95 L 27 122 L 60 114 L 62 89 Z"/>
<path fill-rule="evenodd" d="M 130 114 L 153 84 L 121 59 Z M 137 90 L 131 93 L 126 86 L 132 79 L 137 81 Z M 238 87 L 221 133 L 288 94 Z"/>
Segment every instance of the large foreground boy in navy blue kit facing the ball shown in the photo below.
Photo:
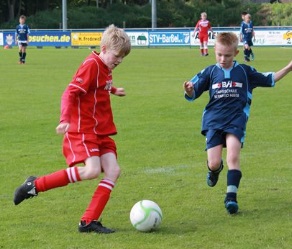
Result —
<path fill-rule="evenodd" d="M 276 73 L 259 73 L 238 64 L 238 38 L 234 33 L 219 33 L 215 42 L 217 64 L 209 66 L 183 84 L 185 98 L 194 101 L 205 91 L 210 100 L 203 112 L 202 134 L 206 136 L 207 184 L 214 187 L 223 169 L 222 150 L 226 147 L 227 191 L 225 208 L 238 212 L 237 190 L 241 179 L 239 164 L 246 123 L 256 87 L 273 87 L 292 70 L 292 61 Z"/>

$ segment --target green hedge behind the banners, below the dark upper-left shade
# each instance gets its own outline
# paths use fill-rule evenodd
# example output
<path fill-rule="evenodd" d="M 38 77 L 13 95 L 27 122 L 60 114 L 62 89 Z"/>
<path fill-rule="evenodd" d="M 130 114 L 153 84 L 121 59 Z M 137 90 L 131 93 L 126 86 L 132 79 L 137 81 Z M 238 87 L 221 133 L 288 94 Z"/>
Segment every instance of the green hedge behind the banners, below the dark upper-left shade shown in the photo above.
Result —
<path fill-rule="evenodd" d="M 157 1 L 157 27 L 193 27 L 200 19 L 201 12 L 207 12 L 213 27 L 239 26 L 241 12 L 248 11 L 256 26 L 292 23 L 292 3 L 290 4 L 244 4 L 238 0 L 217 1 Z M 125 5 L 115 3 L 107 8 L 81 6 L 68 8 L 68 29 L 104 28 L 114 23 L 126 28 L 150 28 L 151 5 Z M 62 23 L 61 9 L 37 12 L 27 18 L 31 29 L 59 29 Z M 2 23 L 1 29 L 13 29 L 18 19 Z"/>

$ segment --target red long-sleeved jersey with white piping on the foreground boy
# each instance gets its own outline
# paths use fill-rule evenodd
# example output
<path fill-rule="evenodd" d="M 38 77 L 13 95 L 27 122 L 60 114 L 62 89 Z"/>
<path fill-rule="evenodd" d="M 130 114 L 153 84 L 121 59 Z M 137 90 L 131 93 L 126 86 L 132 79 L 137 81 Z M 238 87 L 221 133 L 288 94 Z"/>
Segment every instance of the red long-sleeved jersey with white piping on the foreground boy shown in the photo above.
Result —
<path fill-rule="evenodd" d="M 60 122 L 70 123 L 69 132 L 116 134 L 111 91 L 112 71 L 94 51 L 78 68 L 62 95 Z"/>

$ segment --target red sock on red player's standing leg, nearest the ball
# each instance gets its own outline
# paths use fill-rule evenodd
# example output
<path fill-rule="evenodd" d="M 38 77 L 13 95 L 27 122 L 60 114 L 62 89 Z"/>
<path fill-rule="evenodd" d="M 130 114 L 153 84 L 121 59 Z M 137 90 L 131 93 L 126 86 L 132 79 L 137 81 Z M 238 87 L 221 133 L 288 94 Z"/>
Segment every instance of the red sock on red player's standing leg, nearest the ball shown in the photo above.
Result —
<path fill-rule="evenodd" d="M 110 180 L 102 179 L 100 181 L 92 196 L 91 202 L 89 203 L 85 213 L 81 218 L 82 221 L 85 221 L 86 224 L 89 224 L 93 220 L 98 220 L 109 200 L 114 186 L 115 183 Z"/>

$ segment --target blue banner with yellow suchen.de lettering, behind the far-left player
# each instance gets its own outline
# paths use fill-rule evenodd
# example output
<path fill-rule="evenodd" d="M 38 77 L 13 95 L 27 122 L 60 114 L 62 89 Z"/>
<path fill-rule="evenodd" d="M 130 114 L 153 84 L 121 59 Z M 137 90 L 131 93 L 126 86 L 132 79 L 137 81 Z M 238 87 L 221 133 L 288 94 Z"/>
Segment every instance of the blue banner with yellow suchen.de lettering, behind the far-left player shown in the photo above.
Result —
<path fill-rule="evenodd" d="M 4 46 L 16 46 L 15 38 L 15 32 L 3 32 Z M 71 32 L 31 31 L 29 34 L 29 46 L 68 47 L 71 46 Z"/>

